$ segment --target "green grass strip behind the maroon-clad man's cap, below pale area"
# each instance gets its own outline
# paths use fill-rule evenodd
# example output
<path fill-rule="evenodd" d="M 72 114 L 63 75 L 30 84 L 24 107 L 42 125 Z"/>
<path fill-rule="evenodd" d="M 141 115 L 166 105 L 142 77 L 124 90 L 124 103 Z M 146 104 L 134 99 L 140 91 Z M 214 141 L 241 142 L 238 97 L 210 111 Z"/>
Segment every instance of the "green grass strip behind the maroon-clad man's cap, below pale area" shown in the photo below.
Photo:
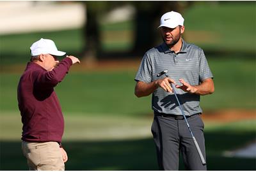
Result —
<path fill-rule="evenodd" d="M 53 39 L 59 50 L 77 55 L 83 48 L 81 29 L 52 32 L 33 32 L 33 34 L 0 35 L 0 62 L 19 64 L 29 60 L 31 44 L 40 38 Z"/>

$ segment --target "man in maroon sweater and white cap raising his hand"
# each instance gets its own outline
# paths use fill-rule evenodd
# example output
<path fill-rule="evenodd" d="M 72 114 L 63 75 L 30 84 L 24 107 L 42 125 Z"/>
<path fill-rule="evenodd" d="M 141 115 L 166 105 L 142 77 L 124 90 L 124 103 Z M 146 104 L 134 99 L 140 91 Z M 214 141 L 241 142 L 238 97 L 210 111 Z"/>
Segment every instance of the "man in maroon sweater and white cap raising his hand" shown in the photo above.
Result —
<path fill-rule="evenodd" d="M 22 117 L 22 152 L 29 170 L 65 170 L 68 156 L 61 146 L 64 119 L 54 87 L 79 59 L 56 48 L 51 39 L 30 47 L 31 62 L 20 77 L 17 96 Z"/>

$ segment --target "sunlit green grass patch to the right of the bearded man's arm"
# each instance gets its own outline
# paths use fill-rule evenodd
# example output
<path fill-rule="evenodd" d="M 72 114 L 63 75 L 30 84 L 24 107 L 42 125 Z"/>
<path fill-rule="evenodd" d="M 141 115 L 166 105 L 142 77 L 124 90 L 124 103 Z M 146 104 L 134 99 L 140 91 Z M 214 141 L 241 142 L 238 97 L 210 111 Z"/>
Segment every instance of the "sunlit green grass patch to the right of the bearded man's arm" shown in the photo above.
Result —
<path fill-rule="evenodd" d="M 201 96 L 203 108 L 256 108 L 255 59 L 226 55 L 220 58 L 211 56 L 208 62 L 214 75 L 215 92 Z"/>

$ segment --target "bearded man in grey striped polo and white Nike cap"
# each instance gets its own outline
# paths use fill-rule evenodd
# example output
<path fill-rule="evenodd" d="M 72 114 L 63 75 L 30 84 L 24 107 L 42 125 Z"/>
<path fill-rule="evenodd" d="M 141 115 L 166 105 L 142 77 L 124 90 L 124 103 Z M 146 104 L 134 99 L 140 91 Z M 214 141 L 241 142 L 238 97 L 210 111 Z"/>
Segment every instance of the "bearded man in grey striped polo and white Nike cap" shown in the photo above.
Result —
<path fill-rule="evenodd" d="M 200 95 L 212 94 L 214 83 L 204 52 L 182 39 L 184 18 L 171 11 L 161 17 L 159 29 L 163 43 L 148 50 L 136 74 L 135 95 L 152 94 L 154 121 L 152 134 L 161 170 L 179 169 L 179 152 L 188 170 L 206 170 L 182 117 L 170 83 L 175 85 L 180 104 L 205 158 L 204 122 L 200 114 Z M 168 70 L 166 76 L 157 77 Z"/>

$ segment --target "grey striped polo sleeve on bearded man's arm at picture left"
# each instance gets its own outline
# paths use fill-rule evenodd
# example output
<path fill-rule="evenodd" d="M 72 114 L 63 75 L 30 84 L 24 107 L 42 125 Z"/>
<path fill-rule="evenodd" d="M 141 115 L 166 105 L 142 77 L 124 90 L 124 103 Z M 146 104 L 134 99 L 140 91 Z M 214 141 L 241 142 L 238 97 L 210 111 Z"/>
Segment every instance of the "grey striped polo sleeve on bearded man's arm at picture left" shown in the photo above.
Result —
<path fill-rule="evenodd" d="M 141 61 L 140 67 L 134 79 L 136 82 L 141 81 L 145 83 L 152 82 L 152 63 L 148 58 L 148 55 L 145 54 Z"/>

